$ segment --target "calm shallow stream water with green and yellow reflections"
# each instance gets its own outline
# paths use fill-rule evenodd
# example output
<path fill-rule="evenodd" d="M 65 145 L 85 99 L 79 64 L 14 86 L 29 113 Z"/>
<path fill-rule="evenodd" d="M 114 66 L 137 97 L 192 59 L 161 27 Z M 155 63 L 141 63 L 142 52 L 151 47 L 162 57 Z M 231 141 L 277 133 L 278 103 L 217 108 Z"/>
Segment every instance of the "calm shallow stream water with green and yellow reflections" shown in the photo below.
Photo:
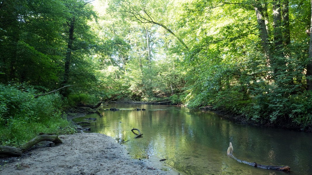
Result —
<path fill-rule="evenodd" d="M 100 111 L 92 132 L 103 133 L 129 146 L 133 158 L 158 156 L 185 174 L 312 174 L 312 134 L 235 124 L 216 114 L 178 106 L 110 104 L 120 111 Z M 135 108 L 146 111 L 133 111 Z M 143 133 L 134 139 L 132 128 Z M 137 131 L 135 131 L 137 132 Z M 288 165 L 291 173 L 254 168 L 227 156 L 229 142 L 234 155 L 263 165 Z"/>

